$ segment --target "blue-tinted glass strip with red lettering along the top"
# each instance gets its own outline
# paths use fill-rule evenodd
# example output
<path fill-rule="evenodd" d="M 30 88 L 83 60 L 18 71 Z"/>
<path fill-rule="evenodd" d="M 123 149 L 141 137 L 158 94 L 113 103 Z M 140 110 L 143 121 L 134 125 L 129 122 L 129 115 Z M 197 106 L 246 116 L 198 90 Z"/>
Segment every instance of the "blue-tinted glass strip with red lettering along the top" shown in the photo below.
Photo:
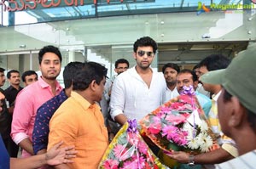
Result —
<path fill-rule="evenodd" d="M 79 20 L 133 14 L 195 12 L 203 5 L 212 11 L 256 8 L 250 0 L 1 0 L 1 25 L 20 25 L 56 20 Z M 247 6 L 243 6 L 243 5 Z"/>

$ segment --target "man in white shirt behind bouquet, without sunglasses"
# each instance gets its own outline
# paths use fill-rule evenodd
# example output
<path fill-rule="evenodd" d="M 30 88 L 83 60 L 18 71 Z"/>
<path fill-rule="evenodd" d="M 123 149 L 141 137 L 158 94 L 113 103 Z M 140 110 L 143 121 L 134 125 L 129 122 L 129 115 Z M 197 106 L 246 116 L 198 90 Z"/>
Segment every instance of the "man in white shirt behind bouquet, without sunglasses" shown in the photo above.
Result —
<path fill-rule="evenodd" d="M 167 63 L 163 66 L 162 72 L 166 79 L 166 89 L 163 93 L 162 104 L 165 104 L 170 99 L 176 98 L 179 95 L 176 87 L 176 79 L 179 71 L 179 66 L 176 64 Z"/>

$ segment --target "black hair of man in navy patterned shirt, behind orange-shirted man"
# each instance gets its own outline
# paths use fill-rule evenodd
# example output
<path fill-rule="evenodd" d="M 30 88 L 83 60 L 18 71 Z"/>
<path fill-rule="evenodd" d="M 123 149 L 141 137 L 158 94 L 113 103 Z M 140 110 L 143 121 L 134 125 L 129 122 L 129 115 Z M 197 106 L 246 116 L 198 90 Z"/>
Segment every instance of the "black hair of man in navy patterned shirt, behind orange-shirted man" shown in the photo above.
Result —
<path fill-rule="evenodd" d="M 65 88 L 71 87 L 73 83 L 73 76 L 84 67 L 82 62 L 70 62 L 63 70 L 63 81 Z"/>

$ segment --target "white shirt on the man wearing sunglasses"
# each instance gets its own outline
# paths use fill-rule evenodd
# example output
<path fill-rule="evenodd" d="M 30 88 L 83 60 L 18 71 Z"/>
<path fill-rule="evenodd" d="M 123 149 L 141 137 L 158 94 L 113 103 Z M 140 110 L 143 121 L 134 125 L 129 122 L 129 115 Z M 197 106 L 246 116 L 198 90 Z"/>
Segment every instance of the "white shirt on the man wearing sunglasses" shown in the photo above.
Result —
<path fill-rule="evenodd" d="M 110 115 L 124 113 L 128 119 L 141 120 L 161 104 L 166 81 L 162 73 L 153 71 L 150 87 L 137 74 L 135 67 L 116 77 L 110 99 Z"/>

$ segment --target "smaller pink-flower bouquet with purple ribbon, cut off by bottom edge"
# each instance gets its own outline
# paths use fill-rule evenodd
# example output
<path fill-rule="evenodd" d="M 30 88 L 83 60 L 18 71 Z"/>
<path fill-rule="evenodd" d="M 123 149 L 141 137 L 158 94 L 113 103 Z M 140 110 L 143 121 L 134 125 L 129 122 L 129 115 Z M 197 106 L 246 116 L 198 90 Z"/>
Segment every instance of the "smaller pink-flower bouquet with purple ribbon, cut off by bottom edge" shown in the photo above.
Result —
<path fill-rule="evenodd" d="M 101 169 L 157 169 L 167 168 L 148 149 L 137 131 L 137 121 L 129 120 L 119 130 L 102 157 Z"/>

